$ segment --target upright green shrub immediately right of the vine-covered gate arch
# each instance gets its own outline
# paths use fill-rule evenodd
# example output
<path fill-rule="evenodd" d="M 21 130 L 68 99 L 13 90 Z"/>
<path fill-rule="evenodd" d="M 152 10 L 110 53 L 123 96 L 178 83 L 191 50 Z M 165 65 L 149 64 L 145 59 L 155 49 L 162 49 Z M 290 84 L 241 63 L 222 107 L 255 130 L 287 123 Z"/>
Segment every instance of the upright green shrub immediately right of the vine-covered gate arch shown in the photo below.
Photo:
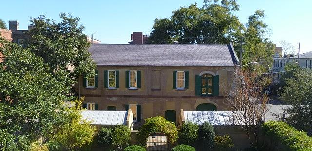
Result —
<path fill-rule="evenodd" d="M 198 125 L 192 122 L 185 122 L 178 133 L 179 144 L 196 146 L 198 141 L 198 130 Z"/>

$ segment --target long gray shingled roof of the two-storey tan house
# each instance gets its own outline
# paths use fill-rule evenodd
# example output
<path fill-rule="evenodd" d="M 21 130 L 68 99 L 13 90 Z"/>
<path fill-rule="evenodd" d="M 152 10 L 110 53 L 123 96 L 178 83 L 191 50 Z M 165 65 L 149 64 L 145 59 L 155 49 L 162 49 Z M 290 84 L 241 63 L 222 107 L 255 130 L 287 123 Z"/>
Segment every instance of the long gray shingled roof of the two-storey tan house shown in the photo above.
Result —
<path fill-rule="evenodd" d="M 91 58 L 100 66 L 234 66 L 229 45 L 92 44 Z"/>

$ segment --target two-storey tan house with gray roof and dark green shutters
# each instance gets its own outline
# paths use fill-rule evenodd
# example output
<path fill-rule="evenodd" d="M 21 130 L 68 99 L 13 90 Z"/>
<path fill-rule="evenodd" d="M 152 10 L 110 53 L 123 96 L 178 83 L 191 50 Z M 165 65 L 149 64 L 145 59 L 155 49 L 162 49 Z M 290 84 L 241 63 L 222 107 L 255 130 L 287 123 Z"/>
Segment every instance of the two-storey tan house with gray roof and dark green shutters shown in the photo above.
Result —
<path fill-rule="evenodd" d="M 178 124 L 180 109 L 226 110 L 238 58 L 228 45 L 92 44 L 97 75 L 75 90 L 87 110 L 131 109 L 135 126 L 163 116 Z"/>

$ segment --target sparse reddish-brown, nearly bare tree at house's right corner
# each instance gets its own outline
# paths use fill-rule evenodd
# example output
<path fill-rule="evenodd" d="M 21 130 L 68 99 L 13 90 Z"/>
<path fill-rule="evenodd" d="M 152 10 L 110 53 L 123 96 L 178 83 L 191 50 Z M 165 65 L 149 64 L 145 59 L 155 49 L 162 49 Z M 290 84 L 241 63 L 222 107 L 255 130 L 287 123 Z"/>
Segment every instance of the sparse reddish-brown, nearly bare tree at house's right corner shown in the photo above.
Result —
<path fill-rule="evenodd" d="M 237 88 L 228 94 L 230 110 L 233 111 L 235 120 L 239 122 L 254 147 L 259 145 L 259 130 L 267 111 L 268 97 L 261 91 L 270 81 L 270 77 L 238 68 L 236 69 Z"/>

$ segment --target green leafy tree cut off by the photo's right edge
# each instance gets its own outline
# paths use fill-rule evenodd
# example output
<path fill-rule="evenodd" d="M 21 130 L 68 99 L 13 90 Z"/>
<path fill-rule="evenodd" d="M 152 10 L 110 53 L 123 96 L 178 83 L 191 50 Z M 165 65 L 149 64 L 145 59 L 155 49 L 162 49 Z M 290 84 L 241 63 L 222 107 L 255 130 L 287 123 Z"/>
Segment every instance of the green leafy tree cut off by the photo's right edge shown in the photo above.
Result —
<path fill-rule="evenodd" d="M 286 79 L 286 86 L 282 90 L 281 98 L 291 104 L 286 109 L 290 116 L 286 122 L 296 129 L 306 132 L 312 131 L 312 70 L 295 70 L 293 77 Z"/>

